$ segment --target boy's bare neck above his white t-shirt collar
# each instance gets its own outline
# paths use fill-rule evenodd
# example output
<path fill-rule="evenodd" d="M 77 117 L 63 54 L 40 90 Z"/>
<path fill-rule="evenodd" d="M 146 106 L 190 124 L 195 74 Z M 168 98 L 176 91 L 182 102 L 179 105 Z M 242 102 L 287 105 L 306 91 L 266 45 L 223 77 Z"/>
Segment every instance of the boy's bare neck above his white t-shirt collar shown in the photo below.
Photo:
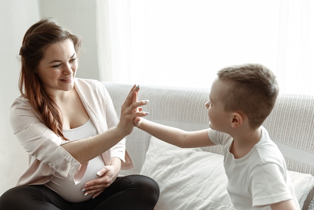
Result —
<path fill-rule="evenodd" d="M 233 142 L 230 147 L 230 152 L 234 158 L 241 158 L 251 151 L 253 146 L 257 144 L 261 138 L 261 128 L 250 130 L 249 132 L 239 132 L 232 135 Z"/>

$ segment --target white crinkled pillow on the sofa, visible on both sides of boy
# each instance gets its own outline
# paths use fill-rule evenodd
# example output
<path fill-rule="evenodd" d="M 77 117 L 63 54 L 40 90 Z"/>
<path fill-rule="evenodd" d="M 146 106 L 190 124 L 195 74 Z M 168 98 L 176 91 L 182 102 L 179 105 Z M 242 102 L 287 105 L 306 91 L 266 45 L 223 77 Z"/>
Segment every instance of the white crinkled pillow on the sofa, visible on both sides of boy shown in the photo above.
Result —
<path fill-rule="evenodd" d="M 156 210 L 234 209 L 226 190 L 223 155 L 201 148 L 180 148 L 151 137 L 140 174 L 160 186 Z M 302 208 L 314 177 L 294 171 L 289 174 Z"/>

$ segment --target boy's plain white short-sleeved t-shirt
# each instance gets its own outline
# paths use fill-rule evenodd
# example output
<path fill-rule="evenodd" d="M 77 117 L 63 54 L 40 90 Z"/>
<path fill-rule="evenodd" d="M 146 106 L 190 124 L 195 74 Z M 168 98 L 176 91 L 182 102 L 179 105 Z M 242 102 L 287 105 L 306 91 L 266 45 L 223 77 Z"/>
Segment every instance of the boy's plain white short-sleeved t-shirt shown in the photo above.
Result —
<path fill-rule="evenodd" d="M 236 159 L 230 152 L 233 138 L 208 130 L 210 140 L 223 145 L 227 190 L 232 203 L 237 210 L 268 210 L 269 204 L 293 199 L 299 209 L 284 157 L 267 130 L 261 126 L 261 131 L 259 142 L 244 157 Z"/>

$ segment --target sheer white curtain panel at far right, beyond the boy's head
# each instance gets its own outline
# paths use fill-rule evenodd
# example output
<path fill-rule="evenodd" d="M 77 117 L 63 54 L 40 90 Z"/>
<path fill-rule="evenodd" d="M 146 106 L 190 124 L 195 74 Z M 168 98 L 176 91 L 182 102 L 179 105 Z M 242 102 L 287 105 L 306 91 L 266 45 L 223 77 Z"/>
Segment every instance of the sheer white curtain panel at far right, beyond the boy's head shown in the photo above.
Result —
<path fill-rule="evenodd" d="M 314 94 L 314 1 L 281 0 L 276 74 L 281 92 Z"/>

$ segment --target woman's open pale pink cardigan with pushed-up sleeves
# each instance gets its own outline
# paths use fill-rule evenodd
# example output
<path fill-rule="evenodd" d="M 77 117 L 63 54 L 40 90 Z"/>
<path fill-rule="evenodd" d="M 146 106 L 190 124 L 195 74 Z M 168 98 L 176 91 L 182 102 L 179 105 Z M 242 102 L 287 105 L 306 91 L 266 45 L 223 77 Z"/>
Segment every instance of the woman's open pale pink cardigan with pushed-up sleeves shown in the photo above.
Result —
<path fill-rule="evenodd" d="M 109 93 L 99 81 L 76 78 L 74 87 L 98 133 L 118 123 Z M 29 154 L 29 167 L 17 186 L 47 183 L 56 171 L 75 184 L 81 180 L 88 162 L 80 164 L 60 146 L 68 141 L 58 137 L 42 122 L 41 116 L 31 108 L 27 99 L 20 96 L 14 101 L 9 119 L 14 134 Z M 122 160 L 122 170 L 133 167 L 125 150 L 125 138 L 102 153 L 106 165 L 110 164 L 111 157 Z"/>

